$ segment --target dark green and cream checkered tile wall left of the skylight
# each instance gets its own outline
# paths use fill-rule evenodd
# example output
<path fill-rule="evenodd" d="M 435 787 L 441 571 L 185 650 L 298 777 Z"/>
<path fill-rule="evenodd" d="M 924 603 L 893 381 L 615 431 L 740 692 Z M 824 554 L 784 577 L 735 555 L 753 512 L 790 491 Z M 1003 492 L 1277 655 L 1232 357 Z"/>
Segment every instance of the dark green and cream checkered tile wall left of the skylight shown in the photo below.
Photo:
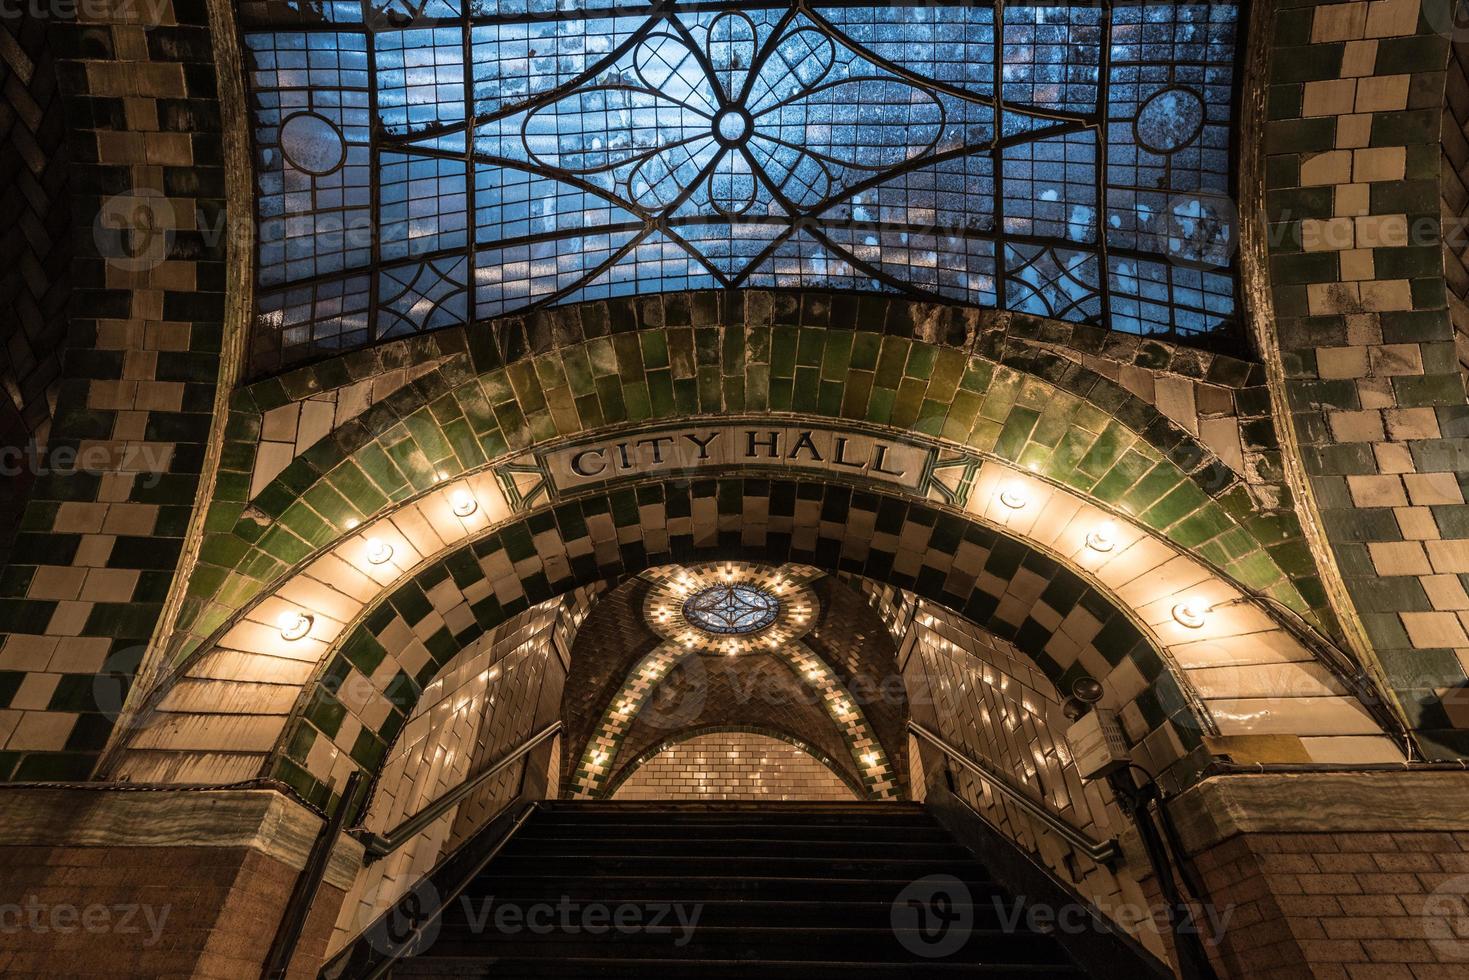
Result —
<path fill-rule="evenodd" d="M 217 69 L 229 76 L 232 35 L 212 37 L 203 3 L 78 12 L 50 22 L 76 259 L 48 447 L 93 461 L 35 480 L 3 574 L 0 777 L 15 780 L 93 771 L 184 552 L 225 347 Z M 37 28 L 7 18 L 0 41 L 15 26 Z M 4 47 L 15 72 L 24 59 Z M 34 175 L 40 148 L 22 131 L 37 131 L 40 103 L 19 78 L 6 85 L 24 109 L 10 145 Z M 37 231 L 25 209 L 6 213 Z"/>

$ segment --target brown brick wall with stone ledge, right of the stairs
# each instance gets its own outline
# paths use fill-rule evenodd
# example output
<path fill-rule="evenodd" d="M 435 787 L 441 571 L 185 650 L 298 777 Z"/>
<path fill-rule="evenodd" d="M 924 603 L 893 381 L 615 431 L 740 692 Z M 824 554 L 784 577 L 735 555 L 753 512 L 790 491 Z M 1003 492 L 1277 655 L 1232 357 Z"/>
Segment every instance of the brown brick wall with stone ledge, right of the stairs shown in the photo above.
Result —
<path fill-rule="evenodd" d="M 1215 776 L 1169 811 L 1225 977 L 1469 977 L 1469 773 Z"/>

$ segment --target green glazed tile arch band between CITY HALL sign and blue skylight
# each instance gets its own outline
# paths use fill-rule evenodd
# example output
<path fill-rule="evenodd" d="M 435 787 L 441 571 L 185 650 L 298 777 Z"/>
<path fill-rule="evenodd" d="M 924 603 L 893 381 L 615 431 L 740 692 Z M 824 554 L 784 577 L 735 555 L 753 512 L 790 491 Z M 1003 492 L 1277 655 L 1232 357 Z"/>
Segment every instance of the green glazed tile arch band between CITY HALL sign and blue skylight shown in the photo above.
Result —
<path fill-rule="evenodd" d="M 862 422 L 1034 466 L 1136 505 L 1155 529 L 1329 632 L 1288 497 L 1277 488 L 1263 495 L 1274 504 L 1262 504 L 1155 406 L 1042 344 L 1103 351 L 1105 332 L 1058 329 L 887 297 L 676 294 L 445 331 L 251 385 L 234 398 L 228 473 L 172 658 L 294 564 L 441 479 L 585 432 L 739 413 Z M 1141 342 L 1143 354 L 1178 360 L 1161 344 Z M 272 411 L 430 360 L 442 363 L 323 430 L 250 491 Z M 1257 369 L 1190 351 L 1178 370 L 1235 385 Z"/>

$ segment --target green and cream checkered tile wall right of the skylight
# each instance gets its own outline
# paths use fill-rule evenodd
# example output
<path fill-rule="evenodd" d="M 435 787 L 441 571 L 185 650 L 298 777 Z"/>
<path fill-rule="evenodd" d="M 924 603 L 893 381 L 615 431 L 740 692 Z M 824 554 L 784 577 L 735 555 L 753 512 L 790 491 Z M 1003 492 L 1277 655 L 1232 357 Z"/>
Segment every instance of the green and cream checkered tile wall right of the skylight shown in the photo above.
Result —
<path fill-rule="evenodd" d="M 1429 758 L 1469 752 L 1469 404 L 1440 244 L 1450 0 L 1278 6 L 1257 326 L 1359 627 Z M 1249 192 L 1249 188 L 1246 188 Z M 1246 253 L 1250 257 L 1250 253 Z M 1274 334 L 1274 335 L 1272 335 Z M 1307 511 L 1309 513 L 1309 511 Z"/>

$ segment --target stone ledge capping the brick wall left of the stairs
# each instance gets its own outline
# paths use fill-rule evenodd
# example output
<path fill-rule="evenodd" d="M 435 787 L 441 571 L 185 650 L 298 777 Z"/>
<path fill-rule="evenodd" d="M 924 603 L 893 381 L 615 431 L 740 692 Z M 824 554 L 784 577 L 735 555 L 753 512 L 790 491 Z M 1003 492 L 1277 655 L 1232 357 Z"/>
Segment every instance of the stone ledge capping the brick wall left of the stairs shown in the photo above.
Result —
<path fill-rule="evenodd" d="M 0 790 L 6 848 L 250 848 L 300 871 L 322 818 L 270 789 Z M 338 840 L 326 883 L 347 890 L 363 848 Z"/>

